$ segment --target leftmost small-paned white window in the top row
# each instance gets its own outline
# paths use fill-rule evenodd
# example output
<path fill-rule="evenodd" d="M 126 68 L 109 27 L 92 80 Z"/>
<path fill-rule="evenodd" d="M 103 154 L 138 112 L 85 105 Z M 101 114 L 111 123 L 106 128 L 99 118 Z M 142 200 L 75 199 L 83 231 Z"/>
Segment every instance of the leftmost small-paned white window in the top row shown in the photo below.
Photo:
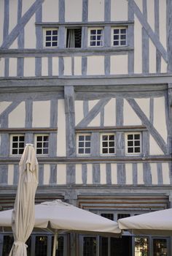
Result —
<path fill-rule="evenodd" d="M 58 47 L 58 29 L 45 29 L 44 47 Z"/>

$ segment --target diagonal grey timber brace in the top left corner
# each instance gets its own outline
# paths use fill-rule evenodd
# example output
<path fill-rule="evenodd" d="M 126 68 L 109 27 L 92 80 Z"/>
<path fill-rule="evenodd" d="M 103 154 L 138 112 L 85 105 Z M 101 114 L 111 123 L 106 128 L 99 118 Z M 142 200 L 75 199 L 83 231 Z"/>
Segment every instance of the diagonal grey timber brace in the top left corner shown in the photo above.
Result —
<path fill-rule="evenodd" d="M 22 18 L 20 18 L 20 21 L 17 23 L 14 29 L 12 29 L 11 33 L 4 39 L 3 44 L 1 45 L 1 48 L 9 48 L 10 45 L 12 45 L 12 42 L 17 38 L 17 36 L 20 34 L 20 30 L 26 26 L 26 23 L 28 23 L 28 20 L 34 15 L 36 10 L 39 9 L 40 5 L 43 3 L 44 0 L 37 0 L 34 2 L 34 4 L 31 5 L 31 7 L 28 9 L 28 11 L 23 15 Z"/>

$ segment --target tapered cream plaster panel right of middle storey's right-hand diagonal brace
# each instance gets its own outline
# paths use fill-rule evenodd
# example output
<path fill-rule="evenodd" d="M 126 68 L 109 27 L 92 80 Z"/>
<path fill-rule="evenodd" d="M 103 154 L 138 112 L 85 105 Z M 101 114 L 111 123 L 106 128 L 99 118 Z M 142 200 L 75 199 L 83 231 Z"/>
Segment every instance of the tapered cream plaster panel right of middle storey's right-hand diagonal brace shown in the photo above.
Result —
<path fill-rule="evenodd" d="M 165 142 L 167 142 L 167 127 L 165 120 L 165 98 L 155 98 L 154 99 L 154 127 L 157 132 L 163 137 Z"/>

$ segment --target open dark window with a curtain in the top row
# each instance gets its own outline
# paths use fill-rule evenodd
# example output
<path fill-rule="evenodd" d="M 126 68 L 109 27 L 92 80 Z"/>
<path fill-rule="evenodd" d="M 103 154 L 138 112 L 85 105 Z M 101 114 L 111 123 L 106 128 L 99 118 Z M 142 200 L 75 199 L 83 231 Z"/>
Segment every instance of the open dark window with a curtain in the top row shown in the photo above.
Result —
<path fill-rule="evenodd" d="M 82 28 L 66 29 L 66 48 L 81 48 Z"/>

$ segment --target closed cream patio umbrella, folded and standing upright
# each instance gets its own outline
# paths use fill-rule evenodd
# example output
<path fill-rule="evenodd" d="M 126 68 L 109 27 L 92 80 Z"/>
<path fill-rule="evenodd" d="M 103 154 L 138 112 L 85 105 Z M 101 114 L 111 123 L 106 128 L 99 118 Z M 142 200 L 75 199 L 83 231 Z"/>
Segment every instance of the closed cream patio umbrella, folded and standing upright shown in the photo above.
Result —
<path fill-rule="evenodd" d="M 9 256 L 27 256 L 26 241 L 34 228 L 34 198 L 38 186 L 38 162 L 32 144 L 26 144 L 19 162 L 15 206 L 12 211 L 14 243 Z"/>

